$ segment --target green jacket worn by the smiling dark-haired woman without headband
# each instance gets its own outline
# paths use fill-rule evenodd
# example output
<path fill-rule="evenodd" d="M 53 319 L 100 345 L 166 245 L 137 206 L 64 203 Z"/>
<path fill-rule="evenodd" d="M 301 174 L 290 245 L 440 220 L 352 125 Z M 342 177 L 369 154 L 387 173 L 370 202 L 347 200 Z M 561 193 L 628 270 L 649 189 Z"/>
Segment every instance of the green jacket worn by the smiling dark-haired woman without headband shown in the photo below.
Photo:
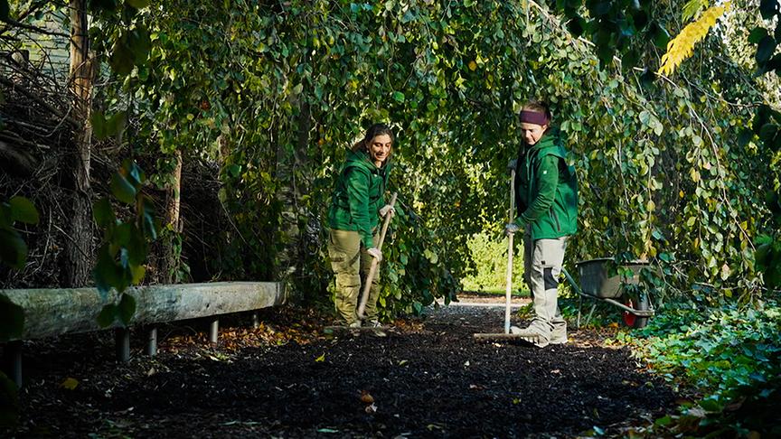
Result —
<path fill-rule="evenodd" d="M 356 230 L 363 246 L 374 247 L 372 230 L 380 222 L 389 174 L 390 159 L 378 168 L 365 151 L 348 153 L 328 210 L 331 229 Z"/>

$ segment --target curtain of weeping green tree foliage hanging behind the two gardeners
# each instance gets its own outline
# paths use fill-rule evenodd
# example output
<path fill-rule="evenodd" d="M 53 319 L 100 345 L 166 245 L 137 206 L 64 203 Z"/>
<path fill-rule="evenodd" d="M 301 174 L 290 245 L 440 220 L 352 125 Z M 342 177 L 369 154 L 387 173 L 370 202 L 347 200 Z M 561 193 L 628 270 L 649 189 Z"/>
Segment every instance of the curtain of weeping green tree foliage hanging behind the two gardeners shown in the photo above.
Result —
<path fill-rule="evenodd" d="M 10 5 L 9 17 L 42 6 Z M 570 260 L 653 259 L 660 292 L 757 293 L 775 162 L 751 121 L 767 93 L 729 56 L 749 49 L 719 38 L 744 24 L 725 18 L 675 77 L 654 79 L 630 66 L 656 70 L 682 4 L 552 6 L 569 21 L 531 1 L 95 1 L 91 124 L 121 154 L 154 158 L 160 187 L 175 154 L 219 164 L 231 227 L 198 238 L 219 248 L 210 272 L 292 274 L 313 294 L 330 280 L 325 209 L 346 148 L 372 122 L 395 126 L 401 208 L 381 299 L 392 312 L 452 297 L 473 268 L 470 236 L 498 238 L 514 115 L 544 99 L 581 183 Z"/>

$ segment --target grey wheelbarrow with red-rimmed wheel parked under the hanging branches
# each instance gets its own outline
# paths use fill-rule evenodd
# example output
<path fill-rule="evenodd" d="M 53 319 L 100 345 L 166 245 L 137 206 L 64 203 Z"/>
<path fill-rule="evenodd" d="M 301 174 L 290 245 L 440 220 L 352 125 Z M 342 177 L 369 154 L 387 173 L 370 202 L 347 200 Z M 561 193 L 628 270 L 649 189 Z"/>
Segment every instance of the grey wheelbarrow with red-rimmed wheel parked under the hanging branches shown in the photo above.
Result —
<path fill-rule="evenodd" d="M 597 301 L 607 302 L 624 311 L 623 320 L 626 326 L 632 328 L 643 328 L 648 323 L 648 319 L 654 316 L 654 306 L 651 304 L 649 294 L 646 291 L 636 290 L 629 294 L 626 285 L 638 285 L 640 283 L 640 270 L 643 268 L 653 269 L 647 261 L 631 261 L 619 265 L 618 274 L 610 273 L 610 267 L 615 266 L 613 258 L 602 257 L 598 259 L 589 259 L 575 264 L 578 271 L 580 285 L 569 274 L 565 268 L 561 268 L 561 273 L 567 278 L 567 282 L 572 289 L 578 293 L 578 321 L 576 328 L 580 327 L 580 311 L 583 297 L 587 299 L 596 299 Z M 586 323 L 591 320 L 594 308 L 597 303 L 591 305 L 588 312 Z"/>

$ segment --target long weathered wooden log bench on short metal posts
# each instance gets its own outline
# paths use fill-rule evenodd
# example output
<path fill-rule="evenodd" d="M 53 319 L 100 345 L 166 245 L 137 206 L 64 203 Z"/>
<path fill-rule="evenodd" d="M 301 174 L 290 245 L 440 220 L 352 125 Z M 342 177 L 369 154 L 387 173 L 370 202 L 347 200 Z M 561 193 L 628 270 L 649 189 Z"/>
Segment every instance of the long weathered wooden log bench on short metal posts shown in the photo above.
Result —
<path fill-rule="evenodd" d="M 14 355 L 13 376 L 21 385 L 21 354 L 16 341 L 52 337 L 65 333 L 99 331 L 97 317 L 108 304 L 96 288 L 61 288 L 0 290 L 8 299 L 24 309 L 24 332 L 7 347 Z M 215 282 L 212 284 L 148 285 L 127 289 L 136 299 L 132 325 L 212 317 L 227 313 L 259 310 L 284 304 L 286 296 L 279 282 Z M 217 318 L 212 319 L 209 339 L 217 341 Z M 119 322 L 116 329 L 119 360 L 129 359 L 129 332 Z M 147 334 L 146 352 L 156 353 L 157 334 Z"/>

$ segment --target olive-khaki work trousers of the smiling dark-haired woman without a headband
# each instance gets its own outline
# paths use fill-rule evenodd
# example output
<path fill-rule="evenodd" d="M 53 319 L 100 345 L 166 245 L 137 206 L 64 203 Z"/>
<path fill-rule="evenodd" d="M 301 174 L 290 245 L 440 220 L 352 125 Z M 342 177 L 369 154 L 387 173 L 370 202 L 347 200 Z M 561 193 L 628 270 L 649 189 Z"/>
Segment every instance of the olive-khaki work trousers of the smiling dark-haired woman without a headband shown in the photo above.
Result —
<path fill-rule="evenodd" d="M 374 240 L 378 239 L 375 231 Z M 328 257 L 331 269 L 336 275 L 336 294 L 334 305 L 336 314 L 345 325 L 358 322 L 356 309 L 361 295 L 361 285 L 372 268 L 372 256 L 361 244 L 361 235 L 354 230 L 330 229 L 328 237 Z M 380 297 L 380 269 L 372 279 L 369 300 L 366 302 L 364 317 L 367 321 L 377 320 L 377 299 Z"/>

